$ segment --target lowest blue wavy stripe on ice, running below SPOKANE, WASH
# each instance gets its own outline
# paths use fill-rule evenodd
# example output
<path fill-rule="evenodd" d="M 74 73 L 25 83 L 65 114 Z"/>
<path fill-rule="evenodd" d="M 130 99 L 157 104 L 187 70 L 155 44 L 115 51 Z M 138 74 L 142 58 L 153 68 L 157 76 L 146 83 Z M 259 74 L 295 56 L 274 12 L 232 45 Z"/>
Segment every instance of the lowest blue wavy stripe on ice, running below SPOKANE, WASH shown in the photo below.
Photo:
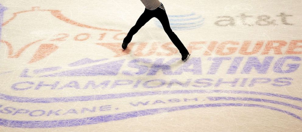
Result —
<path fill-rule="evenodd" d="M 21 120 L 6 120 L 0 119 L 0 125 L 5 127 L 17 127 L 17 128 L 53 128 L 53 127 L 74 127 L 90 124 L 98 124 L 116 120 L 125 120 L 134 117 L 142 117 L 148 115 L 155 115 L 164 112 L 174 112 L 180 110 L 196 109 L 196 108 L 206 108 L 206 107 L 258 107 L 269 110 L 275 110 L 281 113 L 290 115 L 298 120 L 302 120 L 298 115 L 288 112 L 286 110 L 281 110 L 275 107 L 258 105 L 258 104 L 242 104 L 242 103 L 209 103 L 209 104 L 197 104 L 197 105 L 185 105 L 178 107 L 166 107 L 148 110 L 136 110 L 131 112 L 116 113 L 109 115 L 102 115 L 97 117 L 87 117 L 80 119 L 69 119 L 69 120 L 35 120 L 35 121 L 21 121 Z"/>

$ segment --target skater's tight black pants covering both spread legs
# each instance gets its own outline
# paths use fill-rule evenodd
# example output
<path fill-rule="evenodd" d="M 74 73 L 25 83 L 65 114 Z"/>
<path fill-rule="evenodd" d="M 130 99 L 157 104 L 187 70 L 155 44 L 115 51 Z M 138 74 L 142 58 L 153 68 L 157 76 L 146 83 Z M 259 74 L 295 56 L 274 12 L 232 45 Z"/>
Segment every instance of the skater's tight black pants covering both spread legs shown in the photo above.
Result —
<path fill-rule="evenodd" d="M 139 29 L 153 17 L 157 18 L 160 21 L 160 23 L 163 25 L 163 29 L 165 30 L 165 32 L 167 33 L 167 35 L 169 36 L 169 38 L 171 39 L 173 44 L 177 47 L 179 52 L 182 55 L 188 53 L 188 50 L 186 49 L 186 47 L 184 47 L 184 44 L 178 39 L 176 34 L 172 31 L 166 11 L 164 11 L 163 9 L 161 9 L 159 7 L 156 8 L 155 10 L 145 9 L 144 13 L 142 13 L 142 15 L 139 17 L 139 19 L 135 23 L 135 25 L 128 32 L 128 34 L 125 37 L 123 42 L 125 42 L 125 43 L 131 42 L 132 36 L 136 32 L 138 32 Z"/>

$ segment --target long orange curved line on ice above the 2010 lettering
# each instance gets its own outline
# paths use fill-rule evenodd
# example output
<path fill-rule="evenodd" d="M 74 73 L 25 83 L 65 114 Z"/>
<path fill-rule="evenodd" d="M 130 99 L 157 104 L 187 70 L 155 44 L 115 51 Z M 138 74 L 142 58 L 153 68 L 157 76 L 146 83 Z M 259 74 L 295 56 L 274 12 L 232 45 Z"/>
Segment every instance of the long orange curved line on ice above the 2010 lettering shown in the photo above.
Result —
<path fill-rule="evenodd" d="M 44 12 L 44 11 L 51 12 L 51 15 L 53 15 L 54 17 L 56 17 L 56 18 L 58 18 L 58 19 L 60 19 L 60 20 L 62 20 L 64 22 L 66 22 L 66 23 L 69 23 L 71 25 L 76 25 L 76 26 L 79 26 L 79 27 L 84 27 L 84 28 L 88 28 L 88 29 L 104 30 L 104 31 L 114 31 L 114 32 L 120 32 L 121 31 L 121 30 L 116 30 L 116 29 L 104 29 L 104 28 L 98 28 L 98 27 L 93 27 L 93 26 L 90 26 L 90 25 L 81 24 L 79 22 L 76 22 L 76 21 L 73 21 L 71 19 L 68 19 L 59 10 L 42 10 L 39 7 L 32 7 L 31 10 L 25 10 L 25 11 L 20 11 L 20 12 L 13 13 L 12 18 L 10 18 L 9 20 L 7 20 L 4 23 L 2 23 L 2 26 L 6 25 L 7 23 L 9 23 L 13 19 L 15 19 L 16 16 L 18 16 L 18 14 L 20 14 L 20 13 L 33 12 L 33 11 L 36 11 L 36 10 L 42 11 L 42 12 Z"/>

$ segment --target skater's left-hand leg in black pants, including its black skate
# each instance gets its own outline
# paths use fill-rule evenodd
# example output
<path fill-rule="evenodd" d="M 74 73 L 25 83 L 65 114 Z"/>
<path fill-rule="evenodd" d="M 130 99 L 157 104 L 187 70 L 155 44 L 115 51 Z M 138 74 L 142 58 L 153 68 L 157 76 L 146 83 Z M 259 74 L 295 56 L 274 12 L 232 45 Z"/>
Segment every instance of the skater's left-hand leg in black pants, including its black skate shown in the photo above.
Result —
<path fill-rule="evenodd" d="M 123 44 L 122 44 L 123 49 L 127 48 L 127 45 L 129 42 L 131 42 L 133 35 L 135 33 L 137 33 L 139 31 L 139 29 L 141 29 L 142 26 L 145 25 L 152 18 L 153 18 L 152 13 L 150 11 L 148 11 L 147 9 L 145 9 L 144 13 L 142 13 L 142 15 L 139 17 L 139 19 L 135 23 L 135 25 L 130 29 L 127 36 L 125 37 Z"/>

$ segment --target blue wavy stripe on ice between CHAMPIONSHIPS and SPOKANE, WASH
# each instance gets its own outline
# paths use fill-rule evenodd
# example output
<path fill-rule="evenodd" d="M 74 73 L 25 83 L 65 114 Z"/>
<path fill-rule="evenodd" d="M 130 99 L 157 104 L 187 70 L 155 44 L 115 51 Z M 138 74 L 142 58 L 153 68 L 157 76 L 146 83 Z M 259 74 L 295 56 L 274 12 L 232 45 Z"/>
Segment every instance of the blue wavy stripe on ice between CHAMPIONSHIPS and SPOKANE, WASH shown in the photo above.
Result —
<path fill-rule="evenodd" d="M 9 96 L 0 93 L 1 100 L 8 100 L 13 102 L 22 103 L 57 103 L 57 102 L 78 102 L 78 101 L 91 101 L 91 100 L 109 100 L 119 99 L 125 97 L 137 97 L 137 96 L 152 96 L 152 95 L 169 95 L 169 94 L 191 94 L 191 93 L 234 93 L 234 94 L 253 94 L 262 96 L 280 97 L 289 100 L 296 100 L 302 102 L 302 98 L 274 94 L 274 93 L 262 93 L 254 91 L 237 91 L 237 90 L 167 90 L 167 91 L 146 91 L 146 92 L 134 92 L 134 93 L 116 93 L 116 94 L 104 94 L 104 95 L 91 95 L 91 96 L 74 96 L 74 97 L 53 97 L 53 98 L 30 98 L 30 97 L 18 97 Z"/>

